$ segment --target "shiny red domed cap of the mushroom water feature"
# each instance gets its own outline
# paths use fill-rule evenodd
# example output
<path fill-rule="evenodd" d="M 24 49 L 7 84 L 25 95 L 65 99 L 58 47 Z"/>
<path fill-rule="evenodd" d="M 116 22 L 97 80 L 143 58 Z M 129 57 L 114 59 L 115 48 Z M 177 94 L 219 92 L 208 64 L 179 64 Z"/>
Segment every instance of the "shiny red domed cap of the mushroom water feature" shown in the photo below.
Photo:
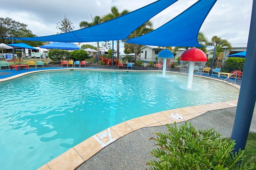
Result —
<path fill-rule="evenodd" d="M 183 52 L 180 57 L 180 61 L 207 61 L 206 54 L 199 49 L 188 49 Z"/>

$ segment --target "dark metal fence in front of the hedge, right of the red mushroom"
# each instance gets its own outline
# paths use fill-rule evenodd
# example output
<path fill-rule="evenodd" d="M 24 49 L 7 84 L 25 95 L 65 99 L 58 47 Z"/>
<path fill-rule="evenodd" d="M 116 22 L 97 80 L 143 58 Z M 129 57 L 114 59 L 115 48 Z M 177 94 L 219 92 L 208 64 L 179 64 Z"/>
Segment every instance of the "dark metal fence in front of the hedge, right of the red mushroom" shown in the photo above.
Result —
<path fill-rule="evenodd" d="M 206 62 L 206 67 L 210 67 L 211 62 Z M 221 72 L 231 73 L 235 70 L 243 72 L 243 63 L 232 63 L 232 62 L 214 62 L 213 68 L 221 68 Z"/>

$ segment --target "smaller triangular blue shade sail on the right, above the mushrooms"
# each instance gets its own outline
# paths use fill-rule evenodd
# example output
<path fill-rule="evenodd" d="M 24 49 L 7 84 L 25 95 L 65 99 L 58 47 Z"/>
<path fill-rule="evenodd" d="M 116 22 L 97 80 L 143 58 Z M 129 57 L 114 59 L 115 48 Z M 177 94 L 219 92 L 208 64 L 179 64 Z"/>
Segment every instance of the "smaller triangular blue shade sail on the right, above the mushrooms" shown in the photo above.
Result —
<path fill-rule="evenodd" d="M 199 0 L 158 29 L 140 37 L 128 39 L 127 43 L 154 46 L 201 47 L 197 35 L 217 0 Z"/>

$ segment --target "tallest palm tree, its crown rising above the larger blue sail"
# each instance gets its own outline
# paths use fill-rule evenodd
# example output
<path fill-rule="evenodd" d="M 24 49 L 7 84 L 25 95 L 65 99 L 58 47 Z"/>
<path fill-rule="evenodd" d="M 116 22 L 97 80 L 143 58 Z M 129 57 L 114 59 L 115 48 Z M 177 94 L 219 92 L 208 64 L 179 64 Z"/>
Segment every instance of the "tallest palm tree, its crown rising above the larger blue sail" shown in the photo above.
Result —
<path fill-rule="evenodd" d="M 110 8 L 110 11 L 111 11 L 110 13 L 103 15 L 101 17 L 102 22 L 109 21 L 116 17 L 129 13 L 128 9 L 124 9 L 121 12 L 119 12 L 117 6 L 115 5 Z M 116 40 L 116 51 L 117 51 L 117 59 L 119 59 L 119 40 Z"/>

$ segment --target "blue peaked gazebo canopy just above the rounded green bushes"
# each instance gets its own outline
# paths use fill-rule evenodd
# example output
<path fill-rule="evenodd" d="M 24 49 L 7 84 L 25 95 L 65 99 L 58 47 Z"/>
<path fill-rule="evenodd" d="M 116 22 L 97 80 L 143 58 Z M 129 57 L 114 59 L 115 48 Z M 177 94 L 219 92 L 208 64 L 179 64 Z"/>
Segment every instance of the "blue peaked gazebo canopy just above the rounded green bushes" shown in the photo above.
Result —
<path fill-rule="evenodd" d="M 58 43 L 53 42 L 47 45 L 39 46 L 43 49 L 60 49 L 60 50 L 79 50 L 80 48 L 73 43 Z"/>

